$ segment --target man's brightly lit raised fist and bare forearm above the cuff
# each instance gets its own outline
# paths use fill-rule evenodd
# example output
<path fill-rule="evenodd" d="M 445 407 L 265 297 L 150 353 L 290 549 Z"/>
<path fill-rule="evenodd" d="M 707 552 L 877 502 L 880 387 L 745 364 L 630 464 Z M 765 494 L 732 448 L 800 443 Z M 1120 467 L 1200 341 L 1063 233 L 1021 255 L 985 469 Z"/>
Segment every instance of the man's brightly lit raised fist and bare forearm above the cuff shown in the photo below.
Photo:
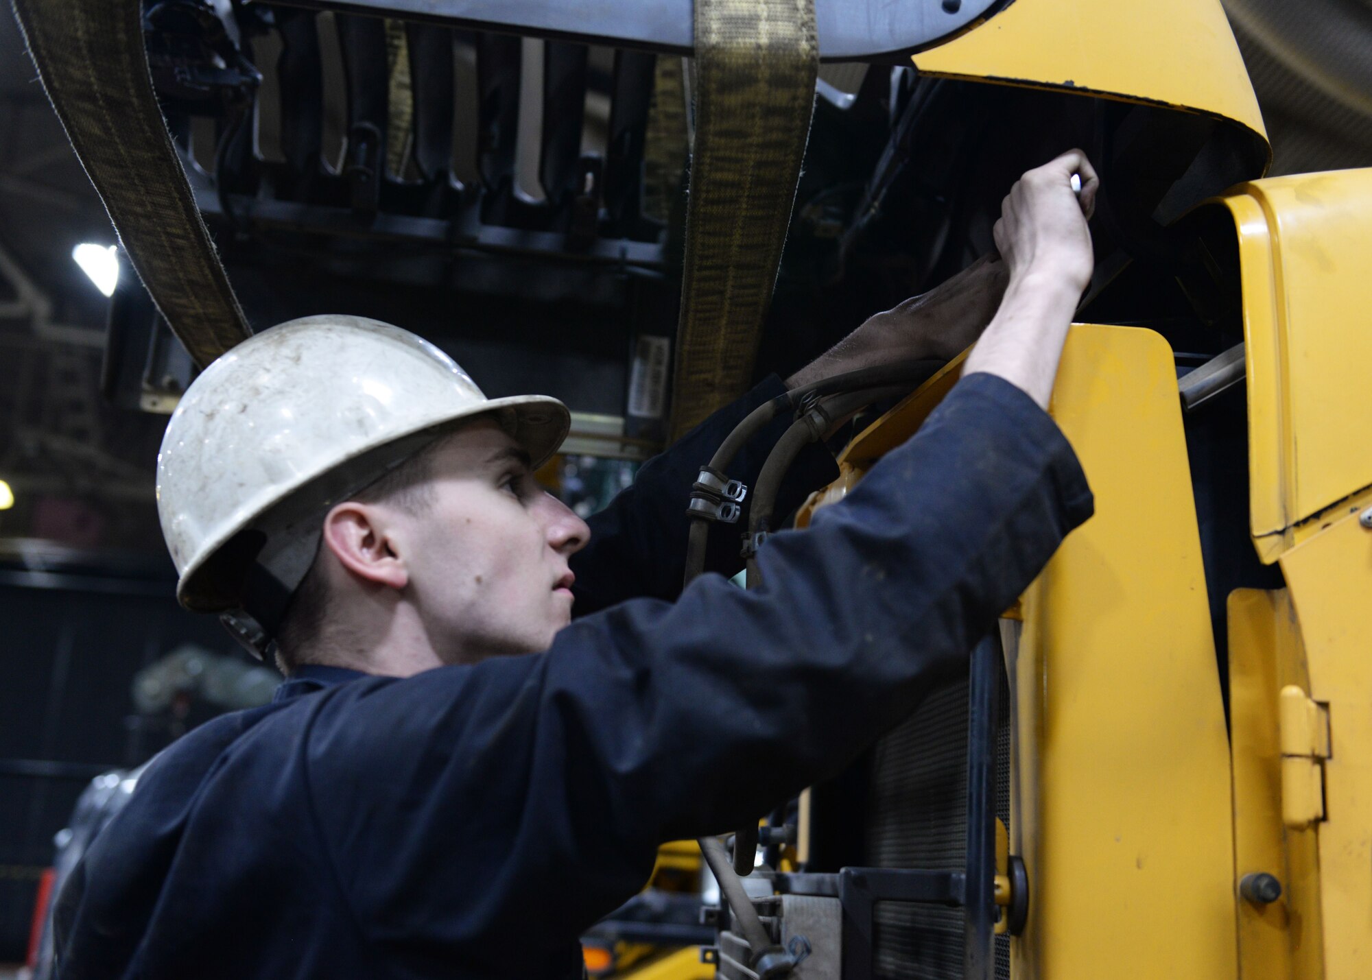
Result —
<path fill-rule="evenodd" d="M 1072 191 L 1073 174 L 1081 178 L 1080 196 Z M 963 376 L 996 375 L 1048 408 L 1072 314 L 1091 281 L 1087 218 L 1099 187 L 1087 155 L 1072 150 L 1011 188 L 995 228 L 1010 284 Z"/>

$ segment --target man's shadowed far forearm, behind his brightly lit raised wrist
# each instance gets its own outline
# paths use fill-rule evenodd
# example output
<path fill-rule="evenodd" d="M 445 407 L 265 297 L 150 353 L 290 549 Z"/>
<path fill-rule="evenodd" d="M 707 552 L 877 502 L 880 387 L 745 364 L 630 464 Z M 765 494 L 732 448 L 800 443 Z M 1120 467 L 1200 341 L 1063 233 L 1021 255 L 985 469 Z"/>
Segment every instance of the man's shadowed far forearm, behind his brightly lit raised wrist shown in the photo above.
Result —
<path fill-rule="evenodd" d="M 1010 276 L 986 255 L 929 292 L 868 317 L 819 358 L 786 379 L 797 388 L 845 371 L 899 361 L 951 361 L 995 316 Z"/>

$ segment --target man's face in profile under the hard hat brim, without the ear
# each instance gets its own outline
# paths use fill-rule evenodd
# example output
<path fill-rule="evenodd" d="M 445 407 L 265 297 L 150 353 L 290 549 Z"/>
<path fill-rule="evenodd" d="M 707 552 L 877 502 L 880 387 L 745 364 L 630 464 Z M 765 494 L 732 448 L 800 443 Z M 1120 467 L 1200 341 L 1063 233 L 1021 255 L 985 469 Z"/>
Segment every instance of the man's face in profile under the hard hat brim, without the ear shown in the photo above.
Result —
<path fill-rule="evenodd" d="M 409 519 L 409 589 L 436 651 L 469 663 L 547 649 L 571 622 L 568 559 L 590 528 L 534 482 L 495 423 L 432 450 L 429 501 Z"/>

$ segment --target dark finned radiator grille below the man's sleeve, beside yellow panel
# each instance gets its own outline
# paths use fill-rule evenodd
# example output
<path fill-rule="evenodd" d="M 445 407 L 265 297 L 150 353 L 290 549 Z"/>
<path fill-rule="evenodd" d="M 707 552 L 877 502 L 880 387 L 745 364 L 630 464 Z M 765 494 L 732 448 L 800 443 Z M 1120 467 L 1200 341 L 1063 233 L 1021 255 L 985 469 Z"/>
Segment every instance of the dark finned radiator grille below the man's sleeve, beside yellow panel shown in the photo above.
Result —
<path fill-rule="evenodd" d="M 996 815 L 1010 824 L 1010 692 L 1000 678 Z M 967 836 L 967 681 L 941 688 L 877 744 L 867 859 L 879 867 L 958 870 Z M 962 977 L 960 909 L 881 902 L 873 962 L 879 980 Z M 996 936 L 996 977 L 1010 977 L 1010 937 Z"/>

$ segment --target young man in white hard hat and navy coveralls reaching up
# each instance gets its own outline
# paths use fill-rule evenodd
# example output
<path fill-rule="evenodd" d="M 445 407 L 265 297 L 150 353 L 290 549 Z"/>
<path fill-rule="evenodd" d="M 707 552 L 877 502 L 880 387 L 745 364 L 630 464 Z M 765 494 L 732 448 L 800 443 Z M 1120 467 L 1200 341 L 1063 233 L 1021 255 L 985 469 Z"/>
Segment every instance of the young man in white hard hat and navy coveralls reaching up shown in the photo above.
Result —
<path fill-rule="evenodd" d="M 296 323 L 221 358 L 169 425 L 163 523 L 182 600 L 247 605 L 291 677 L 150 767 L 62 892 L 59 976 L 579 976 L 578 935 L 642 885 L 660 841 L 841 769 L 1089 516 L 1044 409 L 1095 191 L 1077 151 L 1029 172 L 996 225 L 1003 262 L 792 379 L 948 355 L 989 313 L 975 294 L 1004 283 L 940 409 L 811 528 L 772 535 L 750 592 L 705 575 L 675 594 L 682 512 L 775 380 L 645 465 L 593 535 L 532 483 L 565 432 L 552 399 L 484 401 L 369 321 Z M 320 336 L 351 340 L 316 390 L 298 345 Z M 383 350 L 413 358 L 405 388 L 369 373 Z M 344 382 L 365 398 L 321 413 Z M 816 460 L 800 467 L 814 485 Z M 571 620 L 573 597 L 598 612 Z"/>

